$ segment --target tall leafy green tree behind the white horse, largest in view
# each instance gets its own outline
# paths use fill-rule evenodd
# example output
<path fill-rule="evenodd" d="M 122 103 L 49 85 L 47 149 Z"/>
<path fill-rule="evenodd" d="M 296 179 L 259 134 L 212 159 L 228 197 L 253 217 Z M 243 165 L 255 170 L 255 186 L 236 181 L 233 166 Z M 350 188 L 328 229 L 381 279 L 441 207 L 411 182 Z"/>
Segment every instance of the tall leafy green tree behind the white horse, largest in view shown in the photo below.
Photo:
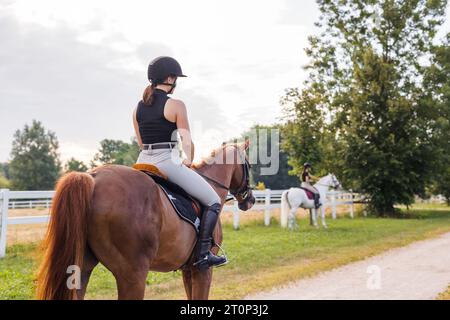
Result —
<path fill-rule="evenodd" d="M 433 108 L 424 107 L 423 79 L 447 1 L 318 5 L 322 33 L 309 39 L 309 77 L 298 101 L 305 108 L 315 101 L 328 120 L 322 155 L 334 146 L 339 173 L 370 196 L 373 212 L 391 215 L 395 204 L 424 193 L 436 168 L 439 132 Z"/>

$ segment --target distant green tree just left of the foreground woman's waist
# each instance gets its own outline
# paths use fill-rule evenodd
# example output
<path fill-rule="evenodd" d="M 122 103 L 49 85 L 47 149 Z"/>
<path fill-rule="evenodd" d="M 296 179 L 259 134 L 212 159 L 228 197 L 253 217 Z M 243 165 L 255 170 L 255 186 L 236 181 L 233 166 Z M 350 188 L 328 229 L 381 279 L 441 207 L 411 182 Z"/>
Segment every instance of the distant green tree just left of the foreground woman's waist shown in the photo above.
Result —
<path fill-rule="evenodd" d="M 94 156 L 91 166 L 95 167 L 98 164 L 132 166 L 136 163 L 139 152 L 139 144 L 136 138 L 133 138 L 131 143 L 126 143 L 121 140 L 104 139 L 100 142 L 100 149 Z"/>

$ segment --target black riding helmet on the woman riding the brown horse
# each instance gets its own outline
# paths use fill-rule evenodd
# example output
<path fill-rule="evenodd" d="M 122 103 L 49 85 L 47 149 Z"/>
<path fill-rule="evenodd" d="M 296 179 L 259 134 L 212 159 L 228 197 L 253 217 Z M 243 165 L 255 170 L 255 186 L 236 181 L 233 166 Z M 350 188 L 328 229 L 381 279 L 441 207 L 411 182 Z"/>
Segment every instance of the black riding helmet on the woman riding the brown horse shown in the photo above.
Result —
<path fill-rule="evenodd" d="M 167 77 L 186 77 L 177 60 L 171 57 L 158 57 L 153 59 L 148 66 L 148 80 L 152 84 L 164 84 Z"/>

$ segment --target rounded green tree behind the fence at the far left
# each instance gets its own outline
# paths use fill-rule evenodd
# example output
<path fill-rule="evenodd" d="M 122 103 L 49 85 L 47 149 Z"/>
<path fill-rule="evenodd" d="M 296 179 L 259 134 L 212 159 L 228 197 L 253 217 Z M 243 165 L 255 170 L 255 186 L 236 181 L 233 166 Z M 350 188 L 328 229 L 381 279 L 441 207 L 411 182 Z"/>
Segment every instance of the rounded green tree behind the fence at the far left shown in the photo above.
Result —
<path fill-rule="evenodd" d="M 56 135 L 33 120 L 17 130 L 11 151 L 11 187 L 17 190 L 51 190 L 60 175 Z"/>

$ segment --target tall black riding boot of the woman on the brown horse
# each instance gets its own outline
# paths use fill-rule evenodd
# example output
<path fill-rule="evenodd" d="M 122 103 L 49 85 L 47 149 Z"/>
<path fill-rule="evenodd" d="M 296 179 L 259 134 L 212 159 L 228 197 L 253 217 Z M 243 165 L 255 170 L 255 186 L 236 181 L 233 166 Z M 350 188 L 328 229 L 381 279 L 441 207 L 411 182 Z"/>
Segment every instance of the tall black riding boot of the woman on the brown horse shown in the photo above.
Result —
<path fill-rule="evenodd" d="M 216 203 L 205 209 L 200 224 L 200 234 L 197 244 L 197 258 L 194 265 L 199 270 L 208 270 L 209 267 L 218 267 L 226 264 L 227 258 L 216 256 L 210 250 L 213 245 L 213 231 L 219 218 L 221 204 Z"/>

